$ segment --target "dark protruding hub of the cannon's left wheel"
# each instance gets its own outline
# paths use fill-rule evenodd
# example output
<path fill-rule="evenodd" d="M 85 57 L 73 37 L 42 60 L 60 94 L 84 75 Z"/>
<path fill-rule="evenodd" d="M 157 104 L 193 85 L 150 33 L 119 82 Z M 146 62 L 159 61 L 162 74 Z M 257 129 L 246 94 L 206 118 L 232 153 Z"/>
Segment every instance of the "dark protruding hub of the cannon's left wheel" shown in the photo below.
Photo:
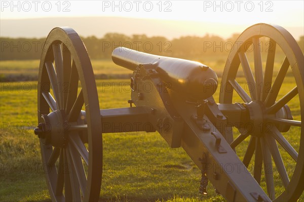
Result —
<path fill-rule="evenodd" d="M 56 110 L 49 114 L 43 114 L 40 124 L 34 129 L 34 133 L 42 140 L 43 144 L 51 144 L 64 148 L 68 124 L 63 110 Z"/>

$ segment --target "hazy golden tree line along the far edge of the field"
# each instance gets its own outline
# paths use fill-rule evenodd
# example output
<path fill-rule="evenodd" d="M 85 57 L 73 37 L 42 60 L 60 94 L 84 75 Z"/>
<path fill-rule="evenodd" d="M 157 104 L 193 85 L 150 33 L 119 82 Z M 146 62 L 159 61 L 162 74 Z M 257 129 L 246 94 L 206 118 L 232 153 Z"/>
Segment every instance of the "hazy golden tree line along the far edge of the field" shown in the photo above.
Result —
<path fill-rule="evenodd" d="M 216 35 L 181 36 L 171 41 L 163 36 L 148 37 L 145 34 L 127 36 L 121 33 L 107 33 L 102 38 L 82 37 L 91 59 L 109 59 L 117 47 L 184 59 L 200 60 L 204 57 L 227 57 L 239 34 L 223 39 Z M 0 37 L 0 60 L 40 59 L 46 38 L 10 38 Z M 298 40 L 303 51 L 304 36 Z M 267 52 L 268 40 L 261 38 L 261 50 Z M 250 49 L 250 48 L 249 48 Z M 248 50 L 249 50 L 248 49 Z M 279 50 L 280 51 L 280 50 Z"/>

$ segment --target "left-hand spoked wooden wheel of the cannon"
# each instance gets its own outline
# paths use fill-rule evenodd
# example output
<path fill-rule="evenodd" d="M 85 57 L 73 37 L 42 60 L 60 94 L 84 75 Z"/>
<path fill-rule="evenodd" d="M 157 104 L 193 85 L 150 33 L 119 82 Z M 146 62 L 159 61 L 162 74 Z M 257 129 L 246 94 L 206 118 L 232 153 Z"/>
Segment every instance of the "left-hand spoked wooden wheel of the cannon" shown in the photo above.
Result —
<path fill-rule="evenodd" d="M 35 134 L 40 136 L 52 200 L 98 201 L 102 175 L 98 95 L 87 50 L 71 28 L 54 28 L 46 39 L 39 69 L 38 120 Z"/>

